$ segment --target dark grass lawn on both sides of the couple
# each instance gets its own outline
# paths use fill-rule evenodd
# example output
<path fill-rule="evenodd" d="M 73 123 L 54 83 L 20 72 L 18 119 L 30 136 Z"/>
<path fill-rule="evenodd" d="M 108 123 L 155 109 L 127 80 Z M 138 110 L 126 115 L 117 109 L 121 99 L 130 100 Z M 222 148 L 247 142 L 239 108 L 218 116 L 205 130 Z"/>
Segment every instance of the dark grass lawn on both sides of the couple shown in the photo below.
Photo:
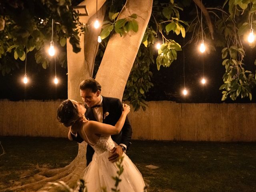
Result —
<path fill-rule="evenodd" d="M 0 146 L 0 191 L 33 174 L 36 164 L 66 166 L 78 150 L 66 138 L 0 137 L 0 142 L 5 150 L 2 154 Z M 148 192 L 256 192 L 255 142 L 133 140 L 127 154 L 149 184 Z"/>

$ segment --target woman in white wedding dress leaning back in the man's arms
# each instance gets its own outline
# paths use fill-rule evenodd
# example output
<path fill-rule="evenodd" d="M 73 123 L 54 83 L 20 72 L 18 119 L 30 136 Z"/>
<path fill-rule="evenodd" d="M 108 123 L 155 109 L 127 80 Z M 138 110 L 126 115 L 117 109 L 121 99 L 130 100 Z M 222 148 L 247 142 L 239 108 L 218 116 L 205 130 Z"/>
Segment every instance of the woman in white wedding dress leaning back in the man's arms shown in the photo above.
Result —
<path fill-rule="evenodd" d="M 118 167 L 115 163 L 110 162 L 108 157 L 117 144 L 110 135 L 118 134 L 122 129 L 125 118 L 130 112 L 130 106 L 123 104 L 123 109 L 120 119 L 115 126 L 112 126 L 87 120 L 84 116 L 86 108 L 75 100 L 64 100 L 58 107 L 59 122 L 73 131 L 77 131 L 84 141 L 95 150 L 92 162 L 86 167 L 83 177 L 88 192 L 101 192 L 102 187 L 106 187 L 106 191 L 111 191 L 115 185 L 115 180 L 112 177 L 116 176 Z M 72 140 L 70 134 L 68 135 Z M 124 172 L 120 176 L 121 182 L 118 185 L 120 192 L 143 192 L 145 184 L 141 173 L 125 153 L 122 158 Z"/>

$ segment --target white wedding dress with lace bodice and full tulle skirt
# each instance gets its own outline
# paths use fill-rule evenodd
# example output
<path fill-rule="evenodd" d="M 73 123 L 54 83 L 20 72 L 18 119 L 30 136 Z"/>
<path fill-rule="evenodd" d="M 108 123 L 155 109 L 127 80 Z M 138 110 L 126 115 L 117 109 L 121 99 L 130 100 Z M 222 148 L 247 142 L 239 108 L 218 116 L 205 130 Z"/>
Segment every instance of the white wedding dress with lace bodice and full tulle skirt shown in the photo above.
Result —
<path fill-rule="evenodd" d="M 115 180 L 112 176 L 117 176 L 118 167 L 108 160 L 110 150 L 117 146 L 110 136 L 101 136 L 98 142 L 91 145 L 95 150 L 92 162 L 86 167 L 84 181 L 88 192 L 102 192 L 102 187 L 106 187 L 107 192 L 114 188 Z M 120 192 L 143 192 L 144 181 L 141 173 L 132 163 L 130 158 L 123 153 L 124 172 L 121 174 L 118 188 Z"/>

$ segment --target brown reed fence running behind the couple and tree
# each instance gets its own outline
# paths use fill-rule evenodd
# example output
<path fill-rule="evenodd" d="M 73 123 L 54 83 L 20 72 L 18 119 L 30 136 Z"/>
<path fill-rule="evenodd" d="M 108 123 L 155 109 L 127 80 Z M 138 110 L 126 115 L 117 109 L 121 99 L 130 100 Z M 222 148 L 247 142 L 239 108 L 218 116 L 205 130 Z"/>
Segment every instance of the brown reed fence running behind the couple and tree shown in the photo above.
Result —
<path fill-rule="evenodd" d="M 0 136 L 66 137 L 58 124 L 57 101 L 0 100 Z M 133 139 L 188 141 L 256 141 L 256 104 L 187 104 L 147 102 L 146 111 L 131 110 Z"/>

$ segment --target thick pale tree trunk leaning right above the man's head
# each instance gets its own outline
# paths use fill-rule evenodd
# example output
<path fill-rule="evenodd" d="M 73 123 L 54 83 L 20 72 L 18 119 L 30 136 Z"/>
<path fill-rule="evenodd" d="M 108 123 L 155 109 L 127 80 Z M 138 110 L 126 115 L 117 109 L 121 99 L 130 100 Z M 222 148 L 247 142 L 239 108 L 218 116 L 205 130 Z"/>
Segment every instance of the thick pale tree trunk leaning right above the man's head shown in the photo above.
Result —
<path fill-rule="evenodd" d="M 152 11 L 152 0 L 128 0 L 119 18 L 137 14 L 139 30 L 125 36 L 114 34 L 106 47 L 96 80 L 102 86 L 102 95 L 122 100 L 130 70 L 138 53 Z"/>

